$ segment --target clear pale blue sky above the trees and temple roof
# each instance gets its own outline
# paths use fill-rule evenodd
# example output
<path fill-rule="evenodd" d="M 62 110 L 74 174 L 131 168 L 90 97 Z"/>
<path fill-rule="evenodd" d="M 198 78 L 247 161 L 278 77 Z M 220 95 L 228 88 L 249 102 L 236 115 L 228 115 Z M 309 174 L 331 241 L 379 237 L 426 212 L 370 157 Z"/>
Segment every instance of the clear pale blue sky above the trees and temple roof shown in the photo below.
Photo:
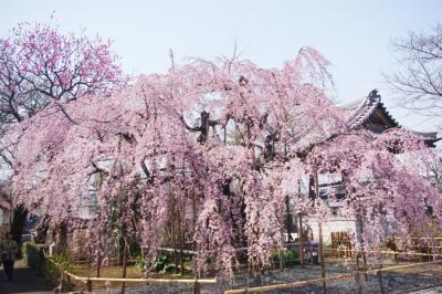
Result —
<path fill-rule="evenodd" d="M 114 40 L 130 74 L 165 72 L 169 49 L 186 56 L 230 55 L 236 42 L 242 57 L 278 67 L 304 45 L 332 63 L 338 99 L 351 101 L 378 88 L 400 124 L 418 130 L 434 122 L 394 107 L 382 72 L 394 70 L 392 38 L 424 32 L 442 22 L 442 1 L 252 1 L 252 0 L 0 0 L 0 35 L 18 22 L 48 22 L 54 12 L 63 31 Z"/>

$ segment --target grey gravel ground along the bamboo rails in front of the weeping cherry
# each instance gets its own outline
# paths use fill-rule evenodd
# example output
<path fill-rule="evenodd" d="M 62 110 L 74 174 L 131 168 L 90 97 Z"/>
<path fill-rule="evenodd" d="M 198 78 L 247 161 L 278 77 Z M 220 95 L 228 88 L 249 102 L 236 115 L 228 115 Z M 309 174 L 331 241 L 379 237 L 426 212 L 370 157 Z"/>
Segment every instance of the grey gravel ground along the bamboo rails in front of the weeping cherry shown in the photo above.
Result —
<path fill-rule="evenodd" d="M 351 271 L 345 267 L 333 267 L 327 269 L 327 275 L 335 275 L 340 273 L 350 273 Z M 285 269 L 283 271 L 269 272 L 265 275 L 254 279 L 248 279 L 244 275 L 236 277 L 231 288 L 243 288 L 246 287 L 249 282 L 249 287 L 261 286 L 261 285 L 272 285 L 272 284 L 283 284 L 296 281 L 304 281 L 311 279 L 319 277 L 318 266 L 295 266 L 291 269 Z M 419 269 L 417 273 L 383 273 L 382 274 L 382 285 L 385 293 L 442 293 L 442 271 L 441 267 L 435 267 L 434 265 L 427 265 Z M 380 293 L 379 280 L 369 275 L 366 282 L 364 276 L 361 276 L 362 293 Z M 228 283 L 218 283 L 211 285 L 201 285 L 201 293 L 223 293 L 225 290 L 230 288 Z M 119 293 L 119 290 L 115 290 L 112 293 Z M 419 292 L 418 292 L 419 291 Z M 106 293 L 105 291 L 96 293 Z M 182 284 L 150 284 L 141 286 L 128 286 L 126 293 L 193 293 L 192 285 Z M 270 291 L 266 293 L 320 293 L 320 284 L 312 284 L 303 287 L 286 288 Z M 354 280 L 339 280 L 327 283 L 327 293 L 356 293 L 356 283 Z"/>

